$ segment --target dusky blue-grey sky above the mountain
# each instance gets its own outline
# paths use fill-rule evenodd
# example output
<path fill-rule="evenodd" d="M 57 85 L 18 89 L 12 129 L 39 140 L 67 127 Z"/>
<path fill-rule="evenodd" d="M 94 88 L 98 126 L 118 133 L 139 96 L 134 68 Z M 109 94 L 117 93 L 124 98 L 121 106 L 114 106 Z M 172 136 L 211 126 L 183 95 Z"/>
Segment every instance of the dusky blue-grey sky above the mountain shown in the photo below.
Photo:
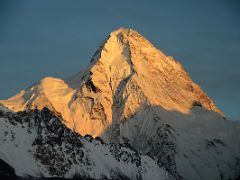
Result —
<path fill-rule="evenodd" d="M 1 0 L 0 99 L 79 72 L 119 27 L 173 56 L 226 117 L 240 120 L 238 0 Z"/>

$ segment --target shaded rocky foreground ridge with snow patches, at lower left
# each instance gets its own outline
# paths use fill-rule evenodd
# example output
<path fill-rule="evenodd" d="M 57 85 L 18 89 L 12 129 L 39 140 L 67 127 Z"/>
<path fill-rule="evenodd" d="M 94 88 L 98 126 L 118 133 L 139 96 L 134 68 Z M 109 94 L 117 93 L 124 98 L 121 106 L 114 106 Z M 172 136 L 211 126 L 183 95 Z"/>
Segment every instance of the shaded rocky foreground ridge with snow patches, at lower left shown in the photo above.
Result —
<path fill-rule="evenodd" d="M 83 137 L 47 108 L 18 113 L 0 110 L 0 125 L 1 161 L 14 167 L 19 176 L 168 179 L 152 158 L 129 144 Z M 2 169 L 0 166 L 0 175 Z"/>

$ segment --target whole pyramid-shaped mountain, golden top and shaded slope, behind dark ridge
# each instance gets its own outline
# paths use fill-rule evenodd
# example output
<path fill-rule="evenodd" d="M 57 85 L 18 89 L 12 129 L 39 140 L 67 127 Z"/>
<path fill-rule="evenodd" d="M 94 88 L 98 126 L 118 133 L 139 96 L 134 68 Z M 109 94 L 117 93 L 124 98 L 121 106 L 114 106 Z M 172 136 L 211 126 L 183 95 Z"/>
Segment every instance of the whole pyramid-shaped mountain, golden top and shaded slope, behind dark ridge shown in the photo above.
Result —
<path fill-rule="evenodd" d="M 47 107 L 76 133 L 152 156 L 175 179 L 240 175 L 239 123 L 132 29 L 110 33 L 75 76 L 44 78 L 0 103 L 14 112 Z"/>

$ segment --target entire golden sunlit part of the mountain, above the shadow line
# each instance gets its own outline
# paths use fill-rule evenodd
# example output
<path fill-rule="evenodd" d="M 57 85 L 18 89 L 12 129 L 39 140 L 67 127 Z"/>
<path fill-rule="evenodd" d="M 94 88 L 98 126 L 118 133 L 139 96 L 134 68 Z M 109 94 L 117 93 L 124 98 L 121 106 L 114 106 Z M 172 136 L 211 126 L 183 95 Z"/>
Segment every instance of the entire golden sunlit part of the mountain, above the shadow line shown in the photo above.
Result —
<path fill-rule="evenodd" d="M 131 29 L 111 32 L 89 68 L 79 74 L 65 82 L 44 78 L 0 102 L 13 111 L 48 107 L 60 113 L 68 127 L 94 136 L 144 104 L 183 114 L 199 105 L 223 115 L 178 62 Z"/>

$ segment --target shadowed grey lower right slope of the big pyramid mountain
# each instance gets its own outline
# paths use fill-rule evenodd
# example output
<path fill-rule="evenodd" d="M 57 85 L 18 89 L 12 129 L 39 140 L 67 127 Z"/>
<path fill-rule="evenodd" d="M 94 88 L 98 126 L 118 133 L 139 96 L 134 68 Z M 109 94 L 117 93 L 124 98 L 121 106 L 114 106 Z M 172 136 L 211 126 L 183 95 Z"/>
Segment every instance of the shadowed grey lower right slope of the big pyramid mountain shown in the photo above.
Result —
<path fill-rule="evenodd" d="M 176 179 L 240 175 L 240 124 L 203 107 L 182 114 L 146 105 L 118 125 L 115 138 L 156 157 Z"/>

